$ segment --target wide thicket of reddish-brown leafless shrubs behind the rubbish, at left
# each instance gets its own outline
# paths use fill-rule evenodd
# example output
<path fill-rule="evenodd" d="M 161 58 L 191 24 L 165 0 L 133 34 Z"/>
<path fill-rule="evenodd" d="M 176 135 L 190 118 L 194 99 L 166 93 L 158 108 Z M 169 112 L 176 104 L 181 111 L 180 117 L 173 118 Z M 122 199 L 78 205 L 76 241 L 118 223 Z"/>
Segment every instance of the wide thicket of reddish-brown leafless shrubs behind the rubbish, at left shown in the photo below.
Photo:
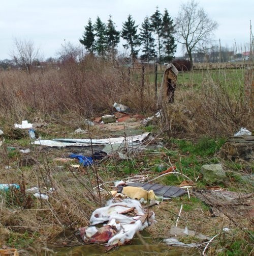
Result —
<path fill-rule="evenodd" d="M 1 115 L 15 121 L 66 113 L 89 117 L 112 112 L 114 102 L 133 111 L 150 109 L 155 106 L 154 95 L 148 93 L 148 83 L 142 88 L 140 72 L 133 69 L 129 74 L 128 68 L 92 56 L 81 62 L 65 59 L 59 69 L 46 67 L 31 74 L 2 71 Z"/>

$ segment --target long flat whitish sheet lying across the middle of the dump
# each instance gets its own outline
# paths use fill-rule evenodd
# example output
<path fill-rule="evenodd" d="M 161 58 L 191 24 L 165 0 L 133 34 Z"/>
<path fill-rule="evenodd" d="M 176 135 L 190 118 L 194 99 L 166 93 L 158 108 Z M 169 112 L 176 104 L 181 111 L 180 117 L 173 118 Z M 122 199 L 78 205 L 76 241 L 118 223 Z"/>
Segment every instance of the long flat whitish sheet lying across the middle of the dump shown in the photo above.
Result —
<path fill-rule="evenodd" d="M 149 137 L 150 133 L 141 135 L 108 138 L 108 139 L 53 139 L 53 140 L 36 140 L 34 144 L 49 147 L 70 147 L 70 146 L 97 146 L 116 143 L 125 143 L 126 145 L 138 145 Z"/>

